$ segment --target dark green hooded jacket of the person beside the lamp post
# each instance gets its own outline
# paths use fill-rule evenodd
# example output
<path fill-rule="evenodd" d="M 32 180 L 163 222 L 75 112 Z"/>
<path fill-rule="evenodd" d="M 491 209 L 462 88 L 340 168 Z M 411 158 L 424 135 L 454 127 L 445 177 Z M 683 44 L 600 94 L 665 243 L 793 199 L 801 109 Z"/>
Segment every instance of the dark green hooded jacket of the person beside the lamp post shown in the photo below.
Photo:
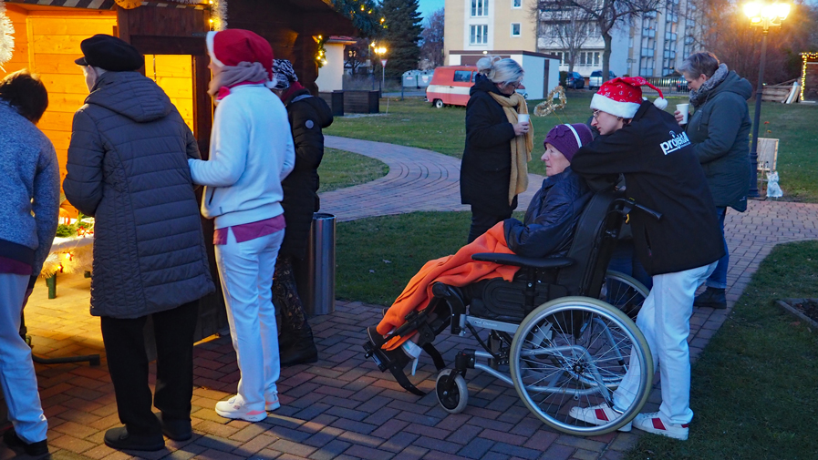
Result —
<path fill-rule="evenodd" d="M 686 132 L 708 179 L 713 202 L 747 210 L 750 190 L 749 81 L 735 72 L 709 90 L 704 104 L 690 118 Z"/>

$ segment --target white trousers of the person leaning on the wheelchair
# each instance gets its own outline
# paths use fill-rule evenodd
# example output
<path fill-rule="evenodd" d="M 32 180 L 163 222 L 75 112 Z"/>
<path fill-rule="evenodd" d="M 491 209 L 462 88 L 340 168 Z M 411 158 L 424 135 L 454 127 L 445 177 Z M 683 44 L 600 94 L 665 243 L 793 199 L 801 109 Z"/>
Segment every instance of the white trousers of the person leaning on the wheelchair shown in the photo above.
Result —
<path fill-rule="evenodd" d="M 670 424 L 689 424 L 690 410 L 690 316 L 696 290 L 716 268 L 713 262 L 704 267 L 665 273 L 653 277 L 653 289 L 637 317 L 637 326 L 645 335 L 647 346 L 661 377 L 662 404 L 659 414 Z M 630 368 L 614 393 L 614 406 L 624 408 L 637 396 L 642 372 L 634 353 Z"/>

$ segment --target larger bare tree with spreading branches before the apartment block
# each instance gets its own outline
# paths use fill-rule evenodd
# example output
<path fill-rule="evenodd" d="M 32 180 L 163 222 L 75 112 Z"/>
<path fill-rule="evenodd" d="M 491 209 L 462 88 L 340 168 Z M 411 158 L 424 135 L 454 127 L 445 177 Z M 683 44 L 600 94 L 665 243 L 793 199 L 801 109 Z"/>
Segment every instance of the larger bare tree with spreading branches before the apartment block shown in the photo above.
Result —
<path fill-rule="evenodd" d="M 663 0 L 538 0 L 543 12 L 558 12 L 576 8 L 595 23 L 605 42 L 602 53 L 602 75 L 608 75 L 611 61 L 611 43 L 616 26 L 626 25 L 645 13 L 657 11 Z"/>

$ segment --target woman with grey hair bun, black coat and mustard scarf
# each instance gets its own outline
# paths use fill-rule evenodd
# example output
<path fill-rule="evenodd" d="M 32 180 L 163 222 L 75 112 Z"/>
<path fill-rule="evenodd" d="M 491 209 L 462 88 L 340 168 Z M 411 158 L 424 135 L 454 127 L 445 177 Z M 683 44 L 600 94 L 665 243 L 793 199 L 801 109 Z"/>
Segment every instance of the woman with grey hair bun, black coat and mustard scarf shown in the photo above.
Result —
<path fill-rule="evenodd" d="M 528 187 L 533 130 L 518 115 L 528 114 L 516 89 L 523 67 L 512 59 L 483 57 L 466 105 L 466 146 L 461 163 L 461 201 L 471 205 L 468 242 L 512 217 L 517 195 Z"/>

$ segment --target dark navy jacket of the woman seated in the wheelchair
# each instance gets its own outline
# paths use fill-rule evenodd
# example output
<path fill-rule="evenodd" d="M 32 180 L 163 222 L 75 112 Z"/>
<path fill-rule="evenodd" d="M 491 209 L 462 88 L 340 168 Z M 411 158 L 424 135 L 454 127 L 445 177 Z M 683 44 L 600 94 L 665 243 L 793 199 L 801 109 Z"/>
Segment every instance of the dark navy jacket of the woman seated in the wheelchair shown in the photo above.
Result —
<path fill-rule="evenodd" d="M 503 222 L 509 249 L 525 257 L 564 256 L 592 195 L 585 180 L 570 168 L 545 178 L 525 211 L 525 220 Z"/>

